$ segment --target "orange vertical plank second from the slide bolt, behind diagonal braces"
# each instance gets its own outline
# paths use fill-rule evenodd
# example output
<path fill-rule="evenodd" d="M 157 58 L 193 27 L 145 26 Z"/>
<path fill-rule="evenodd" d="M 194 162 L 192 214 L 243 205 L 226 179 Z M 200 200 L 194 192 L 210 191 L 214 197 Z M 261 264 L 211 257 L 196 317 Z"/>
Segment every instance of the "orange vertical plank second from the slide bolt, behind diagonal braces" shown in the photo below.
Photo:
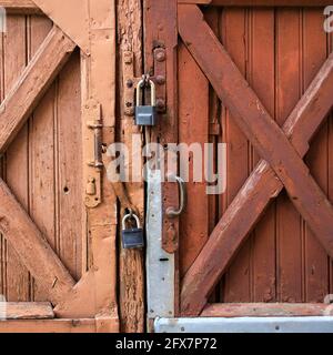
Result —
<path fill-rule="evenodd" d="M 52 23 L 44 17 L 28 18 L 29 60 L 39 49 Z M 41 99 L 29 125 L 29 186 L 30 215 L 56 250 L 54 241 L 54 159 L 53 159 L 54 85 Z M 47 211 L 47 213 L 46 213 Z M 32 282 L 32 298 L 48 301 L 44 292 Z"/>

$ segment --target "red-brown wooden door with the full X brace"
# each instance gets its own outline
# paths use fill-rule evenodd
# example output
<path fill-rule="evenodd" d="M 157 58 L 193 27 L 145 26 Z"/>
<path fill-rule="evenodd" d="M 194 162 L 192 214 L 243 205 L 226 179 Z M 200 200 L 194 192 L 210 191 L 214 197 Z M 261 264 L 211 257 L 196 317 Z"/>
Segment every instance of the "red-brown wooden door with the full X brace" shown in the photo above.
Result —
<path fill-rule="evenodd" d="M 145 51 L 164 47 L 163 144 L 225 143 L 226 191 L 163 187 L 179 256 L 175 315 L 323 315 L 333 268 L 330 1 L 145 1 Z M 174 233 L 170 233 L 170 229 Z M 176 236 L 176 237 L 174 237 Z M 179 247 L 178 247 L 179 244 Z M 255 305 L 254 305 L 255 304 Z"/>

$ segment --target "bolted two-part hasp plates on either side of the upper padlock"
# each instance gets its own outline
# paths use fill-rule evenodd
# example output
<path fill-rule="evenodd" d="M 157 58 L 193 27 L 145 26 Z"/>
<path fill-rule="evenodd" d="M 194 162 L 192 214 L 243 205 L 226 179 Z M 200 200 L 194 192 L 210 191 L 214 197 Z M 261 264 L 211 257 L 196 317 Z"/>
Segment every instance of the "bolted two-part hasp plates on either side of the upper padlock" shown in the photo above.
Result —
<path fill-rule="evenodd" d="M 150 79 L 157 87 L 158 113 L 167 111 L 167 52 L 163 48 L 154 49 L 154 72 Z M 134 75 L 134 54 L 131 51 L 123 53 L 123 88 L 124 114 L 133 116 L 135 112 L 135 89 L 142 77 Z"/>

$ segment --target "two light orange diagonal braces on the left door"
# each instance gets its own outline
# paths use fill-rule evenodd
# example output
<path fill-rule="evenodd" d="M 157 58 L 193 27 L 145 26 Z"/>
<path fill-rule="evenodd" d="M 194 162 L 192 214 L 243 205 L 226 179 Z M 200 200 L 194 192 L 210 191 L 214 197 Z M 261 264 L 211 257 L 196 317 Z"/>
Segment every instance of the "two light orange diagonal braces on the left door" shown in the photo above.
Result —
<path fill-rule="evenodd" d="M 16 85 L 0 106 L 0 153 L 2 154 L 58 75 L 75 43 L 53 27 Z M 20 260 L 49 294 L 60 303 L 75 282 L 28 213 L 0 179 L 0 232 Z"/>

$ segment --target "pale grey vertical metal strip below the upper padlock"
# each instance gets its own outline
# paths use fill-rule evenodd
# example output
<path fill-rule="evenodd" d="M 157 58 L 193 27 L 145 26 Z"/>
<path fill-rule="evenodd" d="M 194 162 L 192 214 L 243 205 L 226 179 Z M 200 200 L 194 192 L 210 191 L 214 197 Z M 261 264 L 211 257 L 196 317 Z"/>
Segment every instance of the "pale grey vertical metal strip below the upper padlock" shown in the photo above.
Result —
<path fill-rule="evenodd" d="M 174 255 L 162 248 L 161 171 L 148 172 L 148 318 L 174 316 Z"/>

